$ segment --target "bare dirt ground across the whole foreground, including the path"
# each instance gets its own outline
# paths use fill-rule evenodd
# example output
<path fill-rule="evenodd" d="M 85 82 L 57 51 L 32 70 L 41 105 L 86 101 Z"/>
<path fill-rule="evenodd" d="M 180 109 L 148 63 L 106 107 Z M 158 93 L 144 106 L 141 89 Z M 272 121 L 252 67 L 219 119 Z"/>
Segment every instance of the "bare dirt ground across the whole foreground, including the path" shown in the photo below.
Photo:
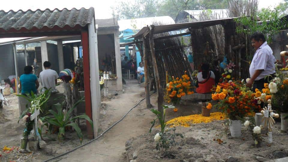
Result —
<path fill-rule="evenodd" d="M 102 98 L 102 108 L 100 114 L 99 134 L 116 121 L 145 97 L 144 87 L 138 85 L 136 80 L 129 80 L 124 85 L 125 93 L 112 98 Z M 16 96 L 7 96 L 10 100 L 10 107 L 4 107 L 0 110 L 0 148 L 4 146 L 19 147 L 20 137 L 24 128 L 23 122 L 17 124 L 19 117 L 18 100 Z M 151 103 L 157 107 L 157 94 L 151 96 Z M 238 161 L 256 161 L 256 156 L 262 156 L 269 159 L 275 159 L 275 151 L 288 149 L 286 133 L 280 133 L 280 125 L 276 123 L 273 128 L 273 144 L 267 146 L 267 138 L 260 148 L 251 148 L 253 141 L 251 135 L 242 128 L 241 138 L 223 137 L 223 144 L 219 145 L 214 138 L 218 138 L 223 126 L 222 121 L 211 123 L 201 123 L 191 125 L 190 128 L 177 127 L 176 133 L 182 133 L 184 139 L 177 138 L 179 145 L 172 149 L 175 159 L 167 159 L 161 157 L 160 152 L 155 152 L 154 135 L 157 129 L 154 128 L 149 134 L 150 122 L 155 118 L 154 114 L 145 108 L 145 100 L 135 107 L 120 123 L 110 129 L 106 134 L 98 140 L 64 155 L 53 161 L 88 161 L 88 162 L 114 162 L 127 161 L 127 155 L 132 157 L 137 152 L 137 161 L 194 161 L 197 158 L 205 158 L 205 156 L 213 156 L 220 161 L 226 160 L 228 156 L 238 158 Z M 213 110 L 214 112 L 216 110 Z M 178 112 L 172 109 L 167 110 L 166 119 L 170 120 L 178 116 L 187 116 L 191 114 L 201 113 L 201 107 L 196 103 L 188 103 L 178 108 Z M 81 121 L 81 129 L 84 136 L 85 121 Z M 20 154 L 16 150 L 11 153 L 4 153 L 1 150 L 2 157 L 0 161 L 44 161 L 51 157 L 67 152 L 80 145 L 75 132 L 67 132 L 66 140 L 59 142 L 57 135 L 44 135 L 46 144 L 42 145 L 42 149 L 31 154 Z M 52 140 L 53 139 L 53 140 Z M 125 142 L 133 139 L 131 148 L 125 151 Z M 83 143 L 88 142 L 86 138 Z M 128 158 L 128 160 L 130 160 Z"/>

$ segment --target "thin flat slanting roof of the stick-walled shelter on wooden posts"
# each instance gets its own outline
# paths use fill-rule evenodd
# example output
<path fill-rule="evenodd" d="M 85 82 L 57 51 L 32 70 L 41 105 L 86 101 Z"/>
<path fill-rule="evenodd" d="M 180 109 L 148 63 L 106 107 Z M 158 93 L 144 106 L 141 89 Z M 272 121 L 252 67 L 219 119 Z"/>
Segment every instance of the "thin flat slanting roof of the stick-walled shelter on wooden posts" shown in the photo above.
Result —
<path fill-rule="evenodd" d="M 159 34 L 159 33 L 164 33 L 164 32 L 172 32 L 172 31 L 187 29 L 187 28 L 200 29 L 200 28 L 205 28 L 208 26 L 214 26 L 214 25 L 222 24 L 224 22 L 227 22 L 229 20 L 233 20 L 235 18 L 237 18 L 237 17 L 155 26 L 154 34 Z M 140 36 L 147 33 L 148 31 L 149 31 L 149 27 L 144 27 L 138 33 L 136 33 L 134 36 L 132 36 L 130 38 L 140 38 Z"/>

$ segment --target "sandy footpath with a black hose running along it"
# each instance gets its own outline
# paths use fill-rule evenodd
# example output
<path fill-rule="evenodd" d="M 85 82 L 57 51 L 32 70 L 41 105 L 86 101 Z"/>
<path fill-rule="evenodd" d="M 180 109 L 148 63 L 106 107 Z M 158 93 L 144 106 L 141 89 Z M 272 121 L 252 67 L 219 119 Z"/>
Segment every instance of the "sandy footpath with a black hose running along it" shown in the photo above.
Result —
<path fill-rule="evenodd" d="M 144 88 L 140 88 L 137 84 L 127 85 L 125 94 L 104 102 L 108 105 L 104 120 L 112 125 L 121 119 L 131 107 L 144 98 L 143 92 Z M 131 137 L 147 133 L 150 128 L 150 121 L 154 118 L 152 113 L 145 109 L 145 105 L 144 100 L 101 138 L 59 158 L 60 161 L 125 161 L 122 155 L 125 152 L 125 142 Z M 104 111 L 101 110 L 102 115 L 103 113 Z M 105 123 L 102 124 L 104 130 L 106 129 Z"/>

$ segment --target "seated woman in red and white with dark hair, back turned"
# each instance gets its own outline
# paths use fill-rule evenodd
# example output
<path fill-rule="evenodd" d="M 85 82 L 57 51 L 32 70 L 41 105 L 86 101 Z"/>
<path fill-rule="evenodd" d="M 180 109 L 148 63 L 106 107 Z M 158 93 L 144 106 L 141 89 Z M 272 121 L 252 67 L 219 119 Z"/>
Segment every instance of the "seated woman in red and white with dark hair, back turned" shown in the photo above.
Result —
<path fill-rule="evenodd" d="M 203 63 L 201 72 L 197 74 L 198 85 L 197 93 L 210 93 L 213 85 L 215 85 L 215 75 L 213 71 L 209 70 L 209 64 Z"/>

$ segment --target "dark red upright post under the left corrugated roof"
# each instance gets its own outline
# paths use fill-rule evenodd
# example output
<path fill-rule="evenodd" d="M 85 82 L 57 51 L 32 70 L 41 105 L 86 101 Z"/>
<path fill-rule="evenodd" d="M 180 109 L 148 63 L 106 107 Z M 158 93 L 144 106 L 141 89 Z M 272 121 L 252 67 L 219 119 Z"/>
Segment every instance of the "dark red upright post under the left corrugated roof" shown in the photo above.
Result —
<path fill-rule="evenodd" d="M 92 119 L 92 104 L 91 104 L 91 90 L 90 90 L 90 68 L 89 68 L 89 40 L 88 32 L 81 32 L 81 42 L 83 49 L 83 72 L 84 72 L 84 94 L 85 94 L 85 113 Z M 93 129 L 89 122 L 86 121 L 87 134 L 89 138 L 93 138 Z"/>

